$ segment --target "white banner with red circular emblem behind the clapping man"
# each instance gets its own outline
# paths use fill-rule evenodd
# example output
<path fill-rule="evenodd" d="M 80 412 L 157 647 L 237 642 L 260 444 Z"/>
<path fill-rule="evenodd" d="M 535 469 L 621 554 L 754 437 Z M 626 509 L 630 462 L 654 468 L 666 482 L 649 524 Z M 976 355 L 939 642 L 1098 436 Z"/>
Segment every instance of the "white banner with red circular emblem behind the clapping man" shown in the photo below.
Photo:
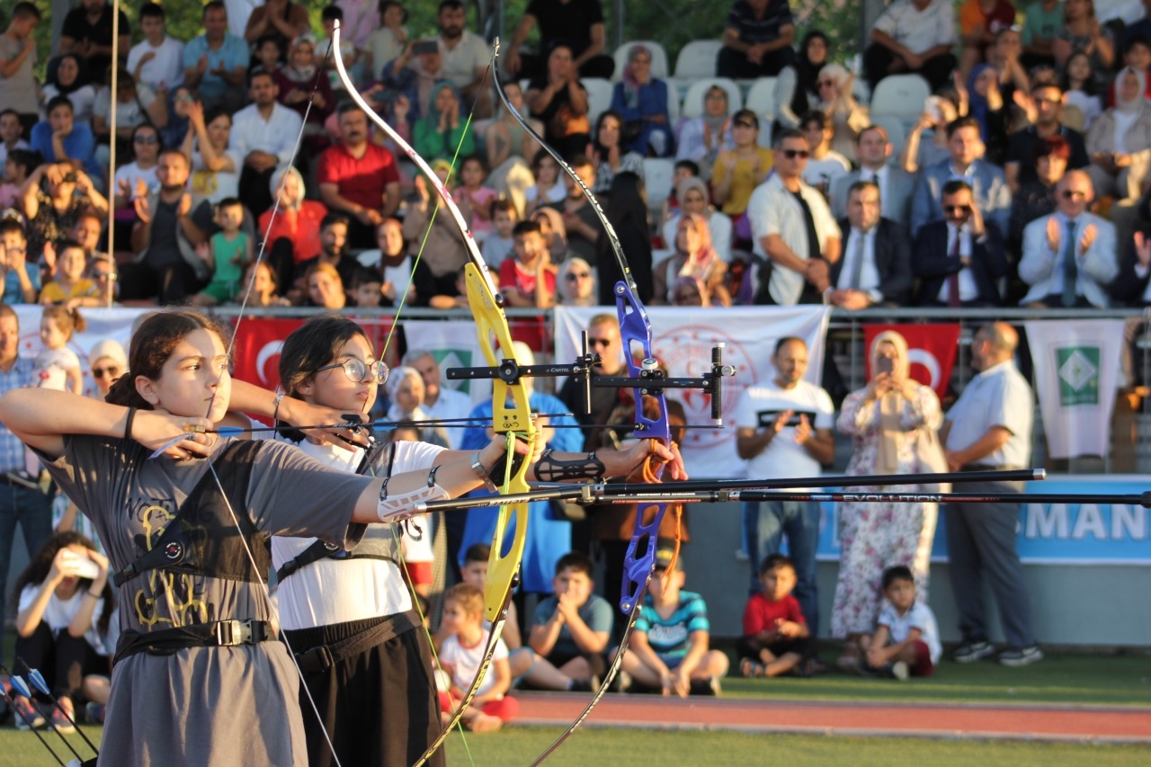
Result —
<path fill-rule="evenodd" d="M 556 306 L 556 362 L 579 355 L 580 333 L 596 314 L 615 309 L 605 306 Z M 655 354 L 672 377 L 698 378 L 711 366 L 711 347 L 726 344 L 724 364 L 735 366 L 735 377 L 724 379 L 721 428 L 689 428 L 680 446 L 693 477 L 740 477 L 745 463 L 735 454 L 735 430 L 727 418 L 748 386 L 769 380 L 771 354 L 776 341 L 798 336 L 807 342 L 809 364 L 807 379 L 820 382 L 823 371 L 824 337 L 831 310 L 826 306 L 755 306 L 730 309 L 691 309 L 653 306 L 651 320 Z M 562 382 L 557 382 L 557 387 Z M 691 425 L 709 424 L 711 397 L 703 392 L 670 389 L 668 396 L 678 400 Z"/>

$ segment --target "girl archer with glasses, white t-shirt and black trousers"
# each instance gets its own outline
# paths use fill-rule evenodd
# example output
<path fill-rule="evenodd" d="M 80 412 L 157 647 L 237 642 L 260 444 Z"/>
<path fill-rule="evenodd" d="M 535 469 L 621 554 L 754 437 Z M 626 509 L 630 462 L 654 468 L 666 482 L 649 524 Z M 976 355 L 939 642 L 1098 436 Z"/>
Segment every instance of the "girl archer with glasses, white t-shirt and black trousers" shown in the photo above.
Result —
<path fill-rule="evenodd" d="M 363 328 L 338 316 L 310 319 L 288 336 L 280 354 L 280 381 L 288 397 L 341 413 L 371 411 L 386 375 Z M 299 448 L 329 466 L 378 477 L 421 476 L 434 466 L 474 470 L 477 477 L 489 465 L 480 453 L 426 442 L 364 449 L 321 439 L 302 439 Z M 672 455 L 648 441 L 627 451 L 601 450 L 592 461 L 585 454 L 547 454 L 533 471 L 571 479 L 619 476 L 649 453 Z M 586 464 L 597 469 L 582 477 L 566 470 Z M 497 476 L 491 474 L 496 481 Z M 273 565 L 281 574 L 281 624 L 321 712 L 314 716 L 302 696 L 312 767 L 333 764 L 333 747 L 345 765 L 406 767 L 439 735 L 430 646 L 397 567 L 399 534 L 395 525 L 372 527 L 350 555 L 314 540 L 272 539 Z M 424 526 L 422 534 L 432 531 Z M 441 751 L 432 764 L 442 761 Z"/>

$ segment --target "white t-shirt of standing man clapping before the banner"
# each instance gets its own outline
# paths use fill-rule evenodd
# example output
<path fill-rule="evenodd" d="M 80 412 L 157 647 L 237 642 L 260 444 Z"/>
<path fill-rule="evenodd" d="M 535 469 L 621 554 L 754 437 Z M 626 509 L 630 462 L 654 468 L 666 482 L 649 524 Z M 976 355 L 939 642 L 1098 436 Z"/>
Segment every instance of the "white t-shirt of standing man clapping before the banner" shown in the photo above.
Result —
<path fill-rule="evenodd" d="M 801 380 L 790 389 L 782 389 L 771 380 L 747 387 L 735 407 L 735 427 L 764 428 L 784 410 L 794 410 L 796 417 L 807 413 L 814 428 L 831 428 L 834 423 L 834 405 L 822 388 Z M 820 462 L 795 442 L 795 427 L 785 426 L 763 453 L 748 458 L 747 476 L 755 479 L 818 477 Z"/>

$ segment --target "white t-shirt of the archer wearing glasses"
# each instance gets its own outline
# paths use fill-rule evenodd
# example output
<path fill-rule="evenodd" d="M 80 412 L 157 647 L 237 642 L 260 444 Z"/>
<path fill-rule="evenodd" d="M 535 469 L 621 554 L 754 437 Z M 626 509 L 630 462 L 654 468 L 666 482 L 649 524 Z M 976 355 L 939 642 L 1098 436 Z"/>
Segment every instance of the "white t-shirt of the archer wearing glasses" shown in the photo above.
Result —
<path fill-rule="evenodd" d="M 333 445 L 299 443 L 305 455 L 353 472 L 361 451 Z M 425 442 L 399 442 L 392 473 L 429 469 L 443 448 Z M 422 526 L 422 525 L 421 525 Z M 425 539 L 430 541 L 430 531 Z M 299 556 L 315 538 L 272 538 L 272 564 L 279 569 Z M 412 608 L 399 568 L 384 560 L 320 560 L 297 570 L 279 588 L 280 623 L 285 630 L 313 629 L 348 621 L 394 615 Z"/>

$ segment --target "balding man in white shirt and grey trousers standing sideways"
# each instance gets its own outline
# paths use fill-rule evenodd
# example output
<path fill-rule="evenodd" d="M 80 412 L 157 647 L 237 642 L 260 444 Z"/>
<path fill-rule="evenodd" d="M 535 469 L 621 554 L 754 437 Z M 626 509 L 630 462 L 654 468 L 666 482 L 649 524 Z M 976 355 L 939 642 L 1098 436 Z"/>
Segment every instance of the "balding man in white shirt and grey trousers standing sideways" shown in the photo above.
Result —
<path fill-rule="evenodd" d="M 1019 335 L 1006 322 L 984 325 L 971 340 L 971 366 L 980 374 L 963 388 L 939 432 L 952 471 L 1022 469 L 1031 463 L 1031 387 L 1013 362 Z M 1023 483 L 968 483 L 965 493 L 1022 493 Z M 948 503 L 947 560 L 959 608 L 962 644 L 954 659 L 971 662 L 994 654 L 988 641 L 983 580 L 999 607 L 1007 650 L 1005 666 L 1043 660 L 1031 630 L 1023 568 L 1015 550 L 1020 504 Z"/>

